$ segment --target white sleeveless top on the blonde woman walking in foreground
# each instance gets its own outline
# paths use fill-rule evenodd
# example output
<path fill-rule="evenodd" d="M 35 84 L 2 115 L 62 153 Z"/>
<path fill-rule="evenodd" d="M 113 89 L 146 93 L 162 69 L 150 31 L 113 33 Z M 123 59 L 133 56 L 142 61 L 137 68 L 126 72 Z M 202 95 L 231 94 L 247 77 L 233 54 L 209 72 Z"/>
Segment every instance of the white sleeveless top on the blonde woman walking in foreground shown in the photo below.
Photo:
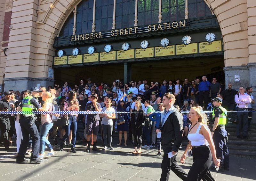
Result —
<path fill-rule="evenodd" d="M 190 126 L 191 126 L 191 124 L 189 125 L 189 128 L 190 128 Z M 209 143 L 204 138 L 204 135 L 199 134 L 199 130 L 200 130 L 201 126 L 202 125 L 199 125 L 199 127 L 196 130 L 196 133 L 189 133 L 188 134 L 188 140 L 191 142 L 191 146 L 209 145 Z"/>

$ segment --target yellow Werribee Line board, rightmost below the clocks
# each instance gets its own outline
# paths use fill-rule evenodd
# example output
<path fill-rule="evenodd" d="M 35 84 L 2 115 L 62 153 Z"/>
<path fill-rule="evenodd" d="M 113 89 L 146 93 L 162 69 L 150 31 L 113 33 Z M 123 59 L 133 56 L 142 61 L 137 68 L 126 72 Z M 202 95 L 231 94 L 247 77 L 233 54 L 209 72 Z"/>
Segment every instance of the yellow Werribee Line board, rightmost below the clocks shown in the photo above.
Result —
<path fill-rule="evenodd" d="M 222 51 L 221 40 L 199 43 L 199 53 Z"/>

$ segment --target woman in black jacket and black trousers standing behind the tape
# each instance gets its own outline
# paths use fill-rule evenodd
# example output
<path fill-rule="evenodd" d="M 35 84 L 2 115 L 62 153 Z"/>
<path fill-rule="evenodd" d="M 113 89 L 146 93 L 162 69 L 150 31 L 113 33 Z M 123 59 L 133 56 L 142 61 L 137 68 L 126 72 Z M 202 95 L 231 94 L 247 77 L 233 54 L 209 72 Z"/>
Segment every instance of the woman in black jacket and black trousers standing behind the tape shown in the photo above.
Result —
<path fill-rule="evenodd" d="M 135 109 L 132 110 L 131 116 L 131 125 L 132 125 L 132 134 L 134 136 L 134 151 L 133 154 L 140 154 L 142 147 L 142 123 L 145 121 L 145 114 L 142 110 L 140 100 L 135 101 Z M 137 142 L 139 142 L 139 149 L 137 151 Z"/>

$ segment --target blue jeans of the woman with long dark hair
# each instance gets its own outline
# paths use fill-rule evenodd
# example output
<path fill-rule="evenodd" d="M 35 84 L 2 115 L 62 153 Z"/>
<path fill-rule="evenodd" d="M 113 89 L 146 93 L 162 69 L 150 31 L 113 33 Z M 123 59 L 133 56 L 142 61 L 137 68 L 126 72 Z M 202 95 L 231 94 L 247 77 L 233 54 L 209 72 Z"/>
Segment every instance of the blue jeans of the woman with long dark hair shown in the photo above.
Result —
<path fill-rule="evenodd" d="M 72 147 L 75 148 L 75 144 L 76 144 L 76 129 L 77 129 L 77 123 L 76 123 L 76 116 L 75 115 L 68 115 L 69 116 L 69 125 L 65 126 L 65 135 L 62 138 L 62 141 L 60 143 L 60 146 L 63 146 L 64 141 L 67 140 L 69 133 L 70 133 L 70 129 L 72 131 Z"/>

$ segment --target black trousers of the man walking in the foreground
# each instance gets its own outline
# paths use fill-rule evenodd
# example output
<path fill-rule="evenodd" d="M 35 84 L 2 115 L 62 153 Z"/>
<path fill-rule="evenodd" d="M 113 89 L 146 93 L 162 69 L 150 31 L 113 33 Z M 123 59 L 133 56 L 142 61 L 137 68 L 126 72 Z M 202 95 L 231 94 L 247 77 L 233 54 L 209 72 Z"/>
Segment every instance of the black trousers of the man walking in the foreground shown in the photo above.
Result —
<path fill-rule="evenodd" d="M 167 181 L 169 180 L 170 176 L 170 170 L 172 170 L 178 177 L 180 177 L 181 180 L 187 181 L 188 180 L 188 174 L 183 170 L 180 165 L 178 165 L 176 161 L 176 156 L 173 156 L 172 158 L 168 157 L 168 153 L 172 151 L 172 148 L 164 148 L 164 157 L 161 164 L 162 168 L 162 174 L 160 181 Z"/>

